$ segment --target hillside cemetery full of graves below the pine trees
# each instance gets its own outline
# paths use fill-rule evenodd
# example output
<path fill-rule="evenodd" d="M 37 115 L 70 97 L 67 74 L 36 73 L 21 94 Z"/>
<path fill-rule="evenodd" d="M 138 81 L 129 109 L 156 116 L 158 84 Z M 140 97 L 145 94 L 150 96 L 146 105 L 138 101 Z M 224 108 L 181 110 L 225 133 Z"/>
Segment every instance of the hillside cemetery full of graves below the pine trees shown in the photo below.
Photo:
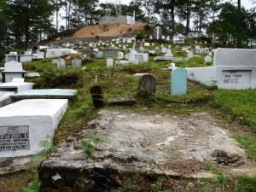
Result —
<path fill-rule="evenodd" d="M 256 49 L 108 6 L 0 53 L 0 191 L 255 191 Z"/>

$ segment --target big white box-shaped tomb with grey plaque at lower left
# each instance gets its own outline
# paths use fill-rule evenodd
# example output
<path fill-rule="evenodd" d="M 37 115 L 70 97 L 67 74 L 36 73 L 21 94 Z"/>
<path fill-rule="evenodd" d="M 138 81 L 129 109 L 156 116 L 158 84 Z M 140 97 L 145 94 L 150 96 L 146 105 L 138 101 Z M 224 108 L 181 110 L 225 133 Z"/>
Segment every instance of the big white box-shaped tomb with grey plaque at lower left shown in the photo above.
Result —
<path fill-rule="evenodd" d="M 27 156 L 43 150 L 40 141 L 54 136 L 66 110 L 66 99 L 23 100 L 0 108 L 0 157 Z"/>

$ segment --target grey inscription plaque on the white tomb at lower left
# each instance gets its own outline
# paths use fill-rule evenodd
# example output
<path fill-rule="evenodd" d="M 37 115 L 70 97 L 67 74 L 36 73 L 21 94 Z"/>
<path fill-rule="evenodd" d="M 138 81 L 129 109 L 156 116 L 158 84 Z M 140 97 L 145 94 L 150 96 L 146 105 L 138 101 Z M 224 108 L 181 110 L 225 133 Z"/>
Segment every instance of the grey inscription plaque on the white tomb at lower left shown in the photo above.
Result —
<path fill-rule="evenodd" d="M 0 151 L 29 149 L 29 125 L 1 125 Z"/>

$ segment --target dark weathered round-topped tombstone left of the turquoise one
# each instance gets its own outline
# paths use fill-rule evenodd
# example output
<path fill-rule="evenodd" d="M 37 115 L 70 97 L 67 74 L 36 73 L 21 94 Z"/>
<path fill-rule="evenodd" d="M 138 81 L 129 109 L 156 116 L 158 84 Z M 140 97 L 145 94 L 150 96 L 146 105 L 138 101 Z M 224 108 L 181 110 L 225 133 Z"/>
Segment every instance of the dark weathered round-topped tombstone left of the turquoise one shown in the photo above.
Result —
<path fill-rule="evenodd" d="M 144 74 L 139 83 L 139 95 L 150 96 L 155 93 L 155 79 L 152 74 Z"/>

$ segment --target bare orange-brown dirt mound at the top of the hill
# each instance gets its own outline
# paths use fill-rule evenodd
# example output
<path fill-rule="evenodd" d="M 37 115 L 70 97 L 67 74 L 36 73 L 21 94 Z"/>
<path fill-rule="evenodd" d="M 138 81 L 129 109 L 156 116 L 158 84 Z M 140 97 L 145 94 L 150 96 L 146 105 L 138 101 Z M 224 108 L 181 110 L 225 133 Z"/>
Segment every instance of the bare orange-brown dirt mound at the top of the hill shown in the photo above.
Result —
<path fill-rule="evenodd" d="M 124 23 L 116 23 L 111 26 L 85 26 L 73 34 L 73 38 L 94 38 L 122 36 L 132 32 L 143 30 L 145 23 L 137 23 L 135 25 L 128 25 Z"/>

